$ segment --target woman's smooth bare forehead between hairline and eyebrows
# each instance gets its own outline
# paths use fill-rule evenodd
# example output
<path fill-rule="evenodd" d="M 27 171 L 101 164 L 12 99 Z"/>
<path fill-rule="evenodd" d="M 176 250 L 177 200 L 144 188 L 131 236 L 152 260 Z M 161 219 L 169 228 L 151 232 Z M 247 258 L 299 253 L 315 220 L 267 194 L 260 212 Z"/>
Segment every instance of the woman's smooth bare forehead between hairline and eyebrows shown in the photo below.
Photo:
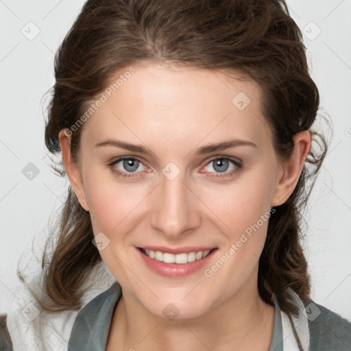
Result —
<path fill-rule="evenodd" d="M 82 138 L 98 143 L 119 136 L 160 147 L 229 137 L 269 140 L 261 88 L 238 72 L 147 62 L 133 69 L 114 74 L 97 95 L 104 102 L 84 123 Z"/>

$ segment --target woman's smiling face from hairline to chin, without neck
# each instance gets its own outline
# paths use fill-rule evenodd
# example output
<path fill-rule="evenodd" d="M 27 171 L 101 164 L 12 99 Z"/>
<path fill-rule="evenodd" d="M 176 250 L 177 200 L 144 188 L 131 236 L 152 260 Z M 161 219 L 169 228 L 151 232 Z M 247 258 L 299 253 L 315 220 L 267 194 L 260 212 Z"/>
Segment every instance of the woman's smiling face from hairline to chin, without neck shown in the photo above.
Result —
<path fill-rule="evenodd" d="M 197 317 L 257 291 L 269 209 L 299 169 L 283 184 L 255 82 L 134 69 L 84 122 L 80 180 L 67 173 L 123 295 L 160 317 Z"/>

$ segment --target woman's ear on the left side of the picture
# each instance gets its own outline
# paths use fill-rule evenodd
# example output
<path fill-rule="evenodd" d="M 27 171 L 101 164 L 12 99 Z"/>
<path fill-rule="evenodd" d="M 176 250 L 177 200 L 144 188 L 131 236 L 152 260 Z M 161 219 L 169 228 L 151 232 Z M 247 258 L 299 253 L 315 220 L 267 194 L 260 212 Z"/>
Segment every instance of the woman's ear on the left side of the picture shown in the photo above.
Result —
<path fill-rule="evenodd" d="M 82 173 L 80 171 L 80 166 L 73 161 L 73 156 L 71 154 L 71 132 L 69 130 L 62 129 L 58 134 L 58 138 L 61 146 L 62 163 L 66 169 L 69 182 L 71 183 L 72 189 L 77 196 L 80 206 L 84 210 L 88 211 L 88 204 L 86 203 L 86 194 L 84 189 L 84 183 L 82 180 Z"/>

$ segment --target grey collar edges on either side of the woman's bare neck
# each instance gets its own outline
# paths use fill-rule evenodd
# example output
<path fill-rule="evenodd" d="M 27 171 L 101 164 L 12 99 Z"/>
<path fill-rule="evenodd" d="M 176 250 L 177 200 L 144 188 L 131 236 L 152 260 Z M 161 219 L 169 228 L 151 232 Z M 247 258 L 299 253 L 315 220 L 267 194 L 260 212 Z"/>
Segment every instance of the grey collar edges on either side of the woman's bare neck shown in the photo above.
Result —
<path fill-rule="evenodd" d="M 82 308 L 73 324 L 68 351 L 106 350 L 112 313 L 120 298 L 121 286 L 116 282 Z M 283 351 L 282 322 L 277 306 L 274 309 L 274 328 L 269 351 Z"/>

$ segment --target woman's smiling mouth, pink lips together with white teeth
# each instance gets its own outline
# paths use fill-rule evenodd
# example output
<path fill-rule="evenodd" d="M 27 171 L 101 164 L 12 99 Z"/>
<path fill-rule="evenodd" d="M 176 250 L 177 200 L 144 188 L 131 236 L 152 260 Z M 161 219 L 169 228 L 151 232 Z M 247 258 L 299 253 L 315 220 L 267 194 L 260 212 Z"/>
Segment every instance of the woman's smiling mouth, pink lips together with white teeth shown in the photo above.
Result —
<path fill-rule="evenodd" d="M 178 278 L 189 276 L 209 265 L 218 247 L 136 247 L 142 263 L 161 276 Z"/>

